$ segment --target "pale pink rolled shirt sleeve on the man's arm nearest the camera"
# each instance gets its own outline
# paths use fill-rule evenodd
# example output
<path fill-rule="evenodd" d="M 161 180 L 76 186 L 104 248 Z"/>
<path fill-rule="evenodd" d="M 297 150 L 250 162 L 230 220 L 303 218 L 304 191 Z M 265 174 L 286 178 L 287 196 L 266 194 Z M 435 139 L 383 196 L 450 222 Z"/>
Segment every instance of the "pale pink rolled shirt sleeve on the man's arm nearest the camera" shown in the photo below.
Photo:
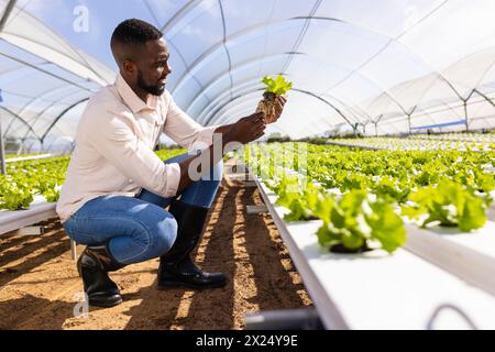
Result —
<path fill-rule="evenodd" d="M 105 116 L 88 133 L 90 144 L 125 177 L 164 197 L 177 194 L 180 167 L 163 161 L 132 130 L 132 123 L 120 116 Z"/>

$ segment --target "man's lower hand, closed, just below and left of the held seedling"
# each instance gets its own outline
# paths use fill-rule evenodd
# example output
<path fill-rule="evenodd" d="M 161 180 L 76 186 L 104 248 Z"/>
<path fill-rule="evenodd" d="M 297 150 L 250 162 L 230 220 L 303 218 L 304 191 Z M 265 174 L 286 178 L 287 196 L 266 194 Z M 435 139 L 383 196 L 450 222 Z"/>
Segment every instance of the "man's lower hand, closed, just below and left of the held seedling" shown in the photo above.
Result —
<path fill-rule="evenodd" d="M 232 124 L 230 131 L 223 138 L 229 142 L 246 144 L 264 135 L 265 128 L 263 112 L 255 112 Z"/>

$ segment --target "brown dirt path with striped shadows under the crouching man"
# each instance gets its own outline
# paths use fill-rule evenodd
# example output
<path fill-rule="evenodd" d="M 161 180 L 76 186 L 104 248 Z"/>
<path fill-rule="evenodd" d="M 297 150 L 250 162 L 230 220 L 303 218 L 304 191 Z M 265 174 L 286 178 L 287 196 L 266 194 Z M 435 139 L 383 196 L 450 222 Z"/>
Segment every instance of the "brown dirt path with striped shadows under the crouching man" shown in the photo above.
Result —
<path fill-rule="evenodd" d="M 258 190 L 223 180 L 197 262 L 221 271 L 220 289 L 156 289 L 157 260 L 112 273 L 124 302 L 108 309 L 78 304 L 82 284 L 59 222 L 41 237 L 0 237 L 0 329 L 243 329 L 244 315 L 311 306 L 270 215 L 248 215 L 262 205 Z M 78 246 L 78 251 L 82 250 Z"/>

